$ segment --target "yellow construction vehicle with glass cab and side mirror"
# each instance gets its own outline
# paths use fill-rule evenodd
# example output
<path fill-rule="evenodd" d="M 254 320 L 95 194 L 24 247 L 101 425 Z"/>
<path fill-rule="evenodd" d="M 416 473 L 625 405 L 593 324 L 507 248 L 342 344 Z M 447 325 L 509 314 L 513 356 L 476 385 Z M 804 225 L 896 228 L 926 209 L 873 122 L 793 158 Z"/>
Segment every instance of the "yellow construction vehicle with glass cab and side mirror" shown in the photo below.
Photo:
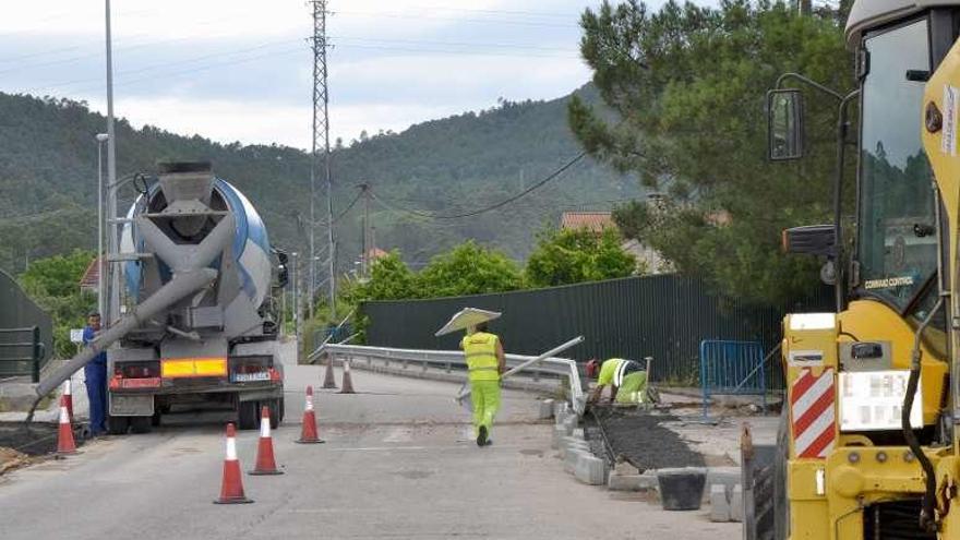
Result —
<path fill-rule="evenodd" d="M 958 29 L 960 2 L 856 0 L 857 89 L 785 74 L 768 93 L 775 160 L 803 156 L 805 94 L 839 106 L 835 224 L 783 233 L 788 251 L 827 257 L 837 311 L 783 321 L 779 455 L 766 493 L 745 487 L 758 513 L 772 502 L 772 519 L 748 538 L 960 540 Z M 844 233 L 853 140 L 856 226 Z"/>

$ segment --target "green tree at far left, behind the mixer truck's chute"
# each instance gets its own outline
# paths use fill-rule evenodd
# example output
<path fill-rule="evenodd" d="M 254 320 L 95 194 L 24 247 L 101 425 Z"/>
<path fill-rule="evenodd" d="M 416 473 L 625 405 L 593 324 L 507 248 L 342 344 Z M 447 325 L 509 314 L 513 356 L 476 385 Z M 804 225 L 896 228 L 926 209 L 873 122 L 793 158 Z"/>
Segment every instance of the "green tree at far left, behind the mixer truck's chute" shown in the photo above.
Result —
<path fill-rule="evenodd" d="M 53 320 L 53 349 L 58 358 L 72 357 L 76 346 L 70 328 L 83 327 L 86 315 L 96 308 L 96 296 L 80 290 L 80 279 L 94 253 L 74 250 L 31 263 L 20 276 L 24 291 Z"/>

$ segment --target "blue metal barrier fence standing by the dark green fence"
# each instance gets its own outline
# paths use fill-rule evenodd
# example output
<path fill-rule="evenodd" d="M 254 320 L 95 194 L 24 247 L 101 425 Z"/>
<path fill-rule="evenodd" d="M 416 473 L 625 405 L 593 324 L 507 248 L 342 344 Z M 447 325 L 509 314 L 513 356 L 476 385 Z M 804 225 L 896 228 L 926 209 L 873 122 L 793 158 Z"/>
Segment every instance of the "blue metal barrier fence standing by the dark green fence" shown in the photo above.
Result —
<path fill-rule="evenodd" d="M 758 341 L 700 341 L 700 386 L 704 419 L 708 417 L 711 394 L 760 395 L 767 410 L 767 377 L 764 347 Z"/>

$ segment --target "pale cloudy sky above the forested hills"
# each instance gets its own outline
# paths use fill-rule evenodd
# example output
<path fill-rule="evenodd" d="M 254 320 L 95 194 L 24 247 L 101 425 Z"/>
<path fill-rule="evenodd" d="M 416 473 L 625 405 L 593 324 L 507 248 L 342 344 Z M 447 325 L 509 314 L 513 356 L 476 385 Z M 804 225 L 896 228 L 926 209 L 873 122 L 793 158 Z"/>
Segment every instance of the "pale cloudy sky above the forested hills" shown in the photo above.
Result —
<path fill-rule="evenodd" d="M 0 92 L 106 110 L 103 0 L 0 0 Z M 116 113 L 223 142 L 310 146 L 304 0 L 113 0 Z M 586 83 L 600 0 L 329 0 L 332 136 L 401 131 Z"/>

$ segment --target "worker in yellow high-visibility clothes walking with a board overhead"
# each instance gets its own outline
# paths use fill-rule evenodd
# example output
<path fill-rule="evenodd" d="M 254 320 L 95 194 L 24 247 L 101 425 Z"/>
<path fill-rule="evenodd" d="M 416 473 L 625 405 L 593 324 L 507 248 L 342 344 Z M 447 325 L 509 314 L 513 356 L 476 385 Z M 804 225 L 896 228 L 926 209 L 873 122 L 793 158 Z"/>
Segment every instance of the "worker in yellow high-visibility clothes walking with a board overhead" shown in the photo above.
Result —
<path fill-rule="evenodd" d="M 469 370 L 473 434 L 477 446 L 487 446 L 493 442 L 490 430 L 500 409 L 500 375 L 506 369 L 503 344 L 495 334 L 487 332 L 487 323 L 480 323 L 464 336 L 460 348 L 467 356 Z"/>

